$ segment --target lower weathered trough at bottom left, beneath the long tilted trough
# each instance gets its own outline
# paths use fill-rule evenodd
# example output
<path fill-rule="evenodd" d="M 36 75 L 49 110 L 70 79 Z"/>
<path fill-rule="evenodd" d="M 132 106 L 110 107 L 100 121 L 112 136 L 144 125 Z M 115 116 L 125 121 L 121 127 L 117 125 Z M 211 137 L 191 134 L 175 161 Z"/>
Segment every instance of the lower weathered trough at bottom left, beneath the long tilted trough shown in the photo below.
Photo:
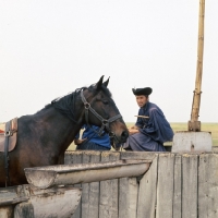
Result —
<path fill-rule="evenodd" d="M 78 187 L 40 190 L 29 184 L 0 189 L 0 218 L 71 217 L 81 199 Z"/>

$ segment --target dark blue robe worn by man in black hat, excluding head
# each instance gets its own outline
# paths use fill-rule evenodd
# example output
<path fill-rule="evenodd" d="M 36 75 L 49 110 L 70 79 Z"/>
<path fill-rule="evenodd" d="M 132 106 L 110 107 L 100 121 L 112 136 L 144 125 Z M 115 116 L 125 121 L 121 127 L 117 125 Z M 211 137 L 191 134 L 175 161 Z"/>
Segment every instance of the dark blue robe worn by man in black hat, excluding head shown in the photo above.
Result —
<path fill-rule="evenodd" d="M 143 108 L 140 108 L 138 116 L 148 118 L 137 118 L 135 125 L 140 128 L 140 133 L 130 135 L 123 148 L 165 152 L 164 143 L 172 141 L 173 131 L 161 109 L 148 101 Z"/>

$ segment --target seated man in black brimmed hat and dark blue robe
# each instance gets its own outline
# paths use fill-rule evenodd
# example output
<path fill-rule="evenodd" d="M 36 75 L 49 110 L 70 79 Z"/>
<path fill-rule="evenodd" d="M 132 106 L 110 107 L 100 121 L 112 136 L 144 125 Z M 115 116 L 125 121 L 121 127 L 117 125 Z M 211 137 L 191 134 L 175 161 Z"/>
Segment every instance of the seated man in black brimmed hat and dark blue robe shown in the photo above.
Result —
<path fill-rule="evenodd" d="M 123 144 L 126 150 L 166 152 L 165 142 L 172 141 L 173 131 L 161 109 L 149 102 L 150 87 L 132 89 L 140 106 L 137 121 L 129 129 L 129 138 Z"/>

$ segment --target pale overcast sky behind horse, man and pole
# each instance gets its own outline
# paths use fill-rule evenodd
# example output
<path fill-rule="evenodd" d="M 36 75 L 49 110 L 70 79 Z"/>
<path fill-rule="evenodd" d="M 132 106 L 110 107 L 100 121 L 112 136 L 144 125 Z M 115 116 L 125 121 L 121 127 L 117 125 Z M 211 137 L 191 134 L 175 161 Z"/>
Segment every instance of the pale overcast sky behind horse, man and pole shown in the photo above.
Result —
<path fill-rule="evenodd" d="M 199 121 L 218 122 L 218 0 L 205 0 Z M 198 0 L 0 0 L 0 122 L 110 76 L 124 121 L 132 88 L 169 122 L 187 122 L 195 88 Z"/>

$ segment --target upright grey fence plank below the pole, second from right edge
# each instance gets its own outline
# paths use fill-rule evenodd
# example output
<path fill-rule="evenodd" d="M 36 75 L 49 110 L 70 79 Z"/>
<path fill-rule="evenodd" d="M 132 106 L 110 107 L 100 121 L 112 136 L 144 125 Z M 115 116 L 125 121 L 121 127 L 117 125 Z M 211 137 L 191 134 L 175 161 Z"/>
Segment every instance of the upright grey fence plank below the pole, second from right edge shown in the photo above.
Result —
<path fill-rule="evenodd" d="M 198 156 L 182 156 L 182 217 L 197 217 L 197 171 Z"/>

